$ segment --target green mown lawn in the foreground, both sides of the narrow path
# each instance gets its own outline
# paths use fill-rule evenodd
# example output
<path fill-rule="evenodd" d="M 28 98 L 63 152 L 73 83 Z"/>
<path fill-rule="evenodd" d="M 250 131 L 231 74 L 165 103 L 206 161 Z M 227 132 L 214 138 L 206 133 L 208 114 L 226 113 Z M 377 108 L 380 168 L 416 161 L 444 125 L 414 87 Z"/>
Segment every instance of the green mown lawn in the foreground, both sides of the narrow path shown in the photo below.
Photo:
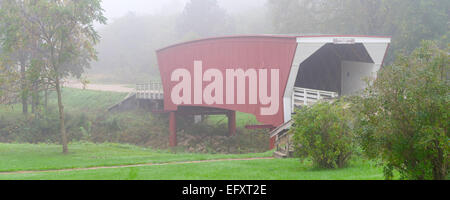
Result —
<path fill-rule="evenodd" d="M 58 145 L 0 144 L 0 171 L 70 169 L 271 155 L 271 152 L 241 155 L 174 154 L 119 144 L 72 144 L 69 148 L 71 153 L 64 156 Z M 376 180 L 383 179 L 383 173 L 373 162 L 361 159 L 353 160 L 347 168 L 334 170 L 315 169 L 310 162 L 300 163 L 297 159 L 273 159 L 0 174 L 0 179 Z"/>

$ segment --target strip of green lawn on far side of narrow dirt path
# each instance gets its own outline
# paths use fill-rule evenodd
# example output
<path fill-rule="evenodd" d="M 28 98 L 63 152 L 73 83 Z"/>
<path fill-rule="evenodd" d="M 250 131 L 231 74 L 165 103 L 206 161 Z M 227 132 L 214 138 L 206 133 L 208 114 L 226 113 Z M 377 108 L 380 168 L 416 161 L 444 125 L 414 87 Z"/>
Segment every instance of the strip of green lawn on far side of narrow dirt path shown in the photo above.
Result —
<path fill-rule="evenodd" d="M 0 144 L 0 172 L 270 157 L 272 155 L 271 152 L 233 155 L 170 153 L 133 145 L 110 143 L 70 144 L 69 151 L 68 155 L 63 155 L 62 147 L 53 144 Z"/>

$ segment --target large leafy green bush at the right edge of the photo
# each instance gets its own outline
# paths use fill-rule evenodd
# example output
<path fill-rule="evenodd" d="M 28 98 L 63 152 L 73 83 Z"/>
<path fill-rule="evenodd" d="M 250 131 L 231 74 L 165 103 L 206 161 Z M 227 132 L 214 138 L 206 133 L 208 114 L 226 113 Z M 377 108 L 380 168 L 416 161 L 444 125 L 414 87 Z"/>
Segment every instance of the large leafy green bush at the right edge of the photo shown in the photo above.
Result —
<path fill-rule="evenodd" d="M 356 98 L 358 137 L 386 178 L 445 179 L 449 164 L 449 52 L 424 41 Z"/>

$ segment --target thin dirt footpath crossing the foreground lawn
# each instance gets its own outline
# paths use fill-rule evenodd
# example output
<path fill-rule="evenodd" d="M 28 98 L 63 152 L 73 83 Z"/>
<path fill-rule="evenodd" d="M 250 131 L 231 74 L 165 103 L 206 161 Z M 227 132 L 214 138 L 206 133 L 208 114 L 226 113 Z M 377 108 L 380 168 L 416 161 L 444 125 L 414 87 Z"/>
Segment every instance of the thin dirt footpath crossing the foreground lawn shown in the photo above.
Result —
<path fill-rule="evenodd" d="M 132 164 L 132 165 L 116 165 L 116 166 L 104 166 L 104 167 L 86 167 L 86 168 L 71 168 L 71 169 L 55 169 L 55 170 L 29 170 L 29 171 L 15 171 L 15 172 L 0 172 L 0 175 L 13 175 L 13 174 L 31 174 L 42 172 L 68 172 L 68 171 L 86 171 L 95 169 L 118 169 L 127 167 L 145 167 L 145 166 L 164 166 L 164 165 L 182 165 L 182 164 L 195 164 L 195 163 L 213 163 L 223 161 L 245 161 L 245 160 L 271 160 L 273 157 L 263 158 L 235 158 L 235 159 L 216 159 L 216 160 L 199 160 L 199 161 L 181 161 L 181 162 L 168 162 L 168 163 L 147 163 L 147 164 Z"/>

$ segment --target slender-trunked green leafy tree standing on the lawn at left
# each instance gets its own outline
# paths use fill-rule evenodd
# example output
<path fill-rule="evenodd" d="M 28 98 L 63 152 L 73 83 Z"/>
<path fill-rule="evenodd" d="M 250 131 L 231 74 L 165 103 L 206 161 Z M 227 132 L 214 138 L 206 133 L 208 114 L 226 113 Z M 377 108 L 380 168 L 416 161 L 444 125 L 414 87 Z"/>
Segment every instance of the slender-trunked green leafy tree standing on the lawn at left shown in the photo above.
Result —
<path fill-rule="evenodd" d="M 106 20 L 100 3 L 100 0 L 42 0 L 30 10 L 30 20 L 40 24 L 37 33 L 44 40 L 50 77 L 56 87 L 63 153 L 67 153 L 68 148 L 61 79 L 69 75 L 80 77 L 84 68 L 96 58 L 94 45 L 99 41 L 99 35 L 93 23 L 105 23 Z"/>

